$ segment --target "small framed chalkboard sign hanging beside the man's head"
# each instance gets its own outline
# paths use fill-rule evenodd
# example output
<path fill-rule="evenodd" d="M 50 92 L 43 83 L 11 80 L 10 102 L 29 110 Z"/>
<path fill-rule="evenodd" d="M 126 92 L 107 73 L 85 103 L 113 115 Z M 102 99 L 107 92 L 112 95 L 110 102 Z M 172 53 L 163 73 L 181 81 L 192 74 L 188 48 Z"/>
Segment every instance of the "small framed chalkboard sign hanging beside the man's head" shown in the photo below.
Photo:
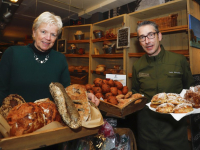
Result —
<path fill-rule="evenodd" d="M 127 48 L 130 46 L 130 27 L 123 27 L 117 33 L 117 48 Z"/>

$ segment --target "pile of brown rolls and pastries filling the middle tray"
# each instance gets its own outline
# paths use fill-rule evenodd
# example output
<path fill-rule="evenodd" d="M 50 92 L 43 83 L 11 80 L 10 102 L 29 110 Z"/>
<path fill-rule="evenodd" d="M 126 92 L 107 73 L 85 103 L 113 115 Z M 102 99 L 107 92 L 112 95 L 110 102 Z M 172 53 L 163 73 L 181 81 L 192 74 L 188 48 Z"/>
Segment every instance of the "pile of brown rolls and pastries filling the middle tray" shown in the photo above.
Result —
<path fill-rule="evenodd" d="M 141 94 L 133 94 L 120 81 L 96 78 L 93 83 L 92 91 L 97 98 L 103 99 L 104 102 L 111 103 L 120 108 L 126 106 L 131 101 L 135 101 L 135 104 L 142 101 L 142 99 L 138 99 L 139 97 L 143 97 Z M 86 84 L 85 87 L 88 93 L 92 93 L 89 84 Z"/>

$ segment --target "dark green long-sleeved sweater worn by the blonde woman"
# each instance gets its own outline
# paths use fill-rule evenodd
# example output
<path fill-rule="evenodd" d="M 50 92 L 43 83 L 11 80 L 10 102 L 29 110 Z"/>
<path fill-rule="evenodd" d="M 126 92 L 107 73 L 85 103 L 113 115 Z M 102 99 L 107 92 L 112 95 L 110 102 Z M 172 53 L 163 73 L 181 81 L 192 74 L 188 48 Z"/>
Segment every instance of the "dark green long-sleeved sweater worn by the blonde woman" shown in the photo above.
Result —
<path fill-rule="evenodd" d="M 49 84 L 60 82 L 64 87 L 70 85 L 70 75 L 65 56 L 50 50 L 49 59 L 41 64 L 34 58 L 30 45 L 9 47 L 0 61 L 0 101 L 9 94 L 18 94 L 26 102 L 50 98 Z M 46 53 L 36 53 L 44 60 Z"/>

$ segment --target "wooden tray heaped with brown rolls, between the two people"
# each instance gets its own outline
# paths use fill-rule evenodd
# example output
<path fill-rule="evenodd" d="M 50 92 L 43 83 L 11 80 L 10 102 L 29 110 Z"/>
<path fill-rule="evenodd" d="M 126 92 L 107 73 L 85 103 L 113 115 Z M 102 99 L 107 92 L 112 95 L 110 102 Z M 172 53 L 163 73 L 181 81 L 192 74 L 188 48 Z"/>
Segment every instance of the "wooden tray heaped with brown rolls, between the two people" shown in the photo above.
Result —
<path fill-rule="evenodd" d="M 96 78 L 85 87 L 88 93 L 100 99 L 100 110 L 120 118 L 142 109 L 147 102 L 143 95 L 133 94 L 117 80 Z"/>

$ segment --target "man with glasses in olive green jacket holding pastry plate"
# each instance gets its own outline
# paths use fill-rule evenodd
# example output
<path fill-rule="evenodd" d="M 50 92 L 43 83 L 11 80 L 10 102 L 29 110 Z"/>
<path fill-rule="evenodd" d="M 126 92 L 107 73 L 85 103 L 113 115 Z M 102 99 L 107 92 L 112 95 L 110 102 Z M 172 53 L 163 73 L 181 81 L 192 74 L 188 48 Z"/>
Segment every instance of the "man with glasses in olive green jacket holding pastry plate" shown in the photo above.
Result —
<path fill-rule="evenodd" d="M 160 45 L 162 34 L 154 22 L 140 23 L 137 34 L 146 54 L 133 65 L 133 93 L 144 94 L 150 102 L 158 93 L 180 93 L 194 84 L 186 58 Z M 190 150 L 185 118 L 176 121 L 146 106 L 137 112 L 137 133 L 138 150 Z"/>

